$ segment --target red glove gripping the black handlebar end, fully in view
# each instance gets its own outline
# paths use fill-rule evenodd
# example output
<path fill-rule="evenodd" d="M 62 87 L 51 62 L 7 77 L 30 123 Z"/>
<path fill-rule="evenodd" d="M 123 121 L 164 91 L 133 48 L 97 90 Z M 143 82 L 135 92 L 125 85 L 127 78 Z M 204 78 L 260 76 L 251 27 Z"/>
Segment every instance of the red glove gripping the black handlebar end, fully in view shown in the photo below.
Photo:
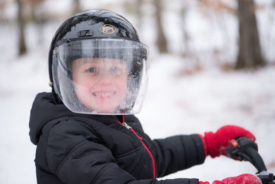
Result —
<path fill-rule="evenodd" d="M 205 155 L 210 155 L 212 158 L 221 154 L 227 156 L 226 147 L 231 145 L 230 141 L 232 139 L 238 137 L 247 137 L 252 141 L 256 140 L 251 132 L 235 125 L 225 125 L 219 128 L 216 133 L 205 132 L 204 137 L 201 136 Z"/>

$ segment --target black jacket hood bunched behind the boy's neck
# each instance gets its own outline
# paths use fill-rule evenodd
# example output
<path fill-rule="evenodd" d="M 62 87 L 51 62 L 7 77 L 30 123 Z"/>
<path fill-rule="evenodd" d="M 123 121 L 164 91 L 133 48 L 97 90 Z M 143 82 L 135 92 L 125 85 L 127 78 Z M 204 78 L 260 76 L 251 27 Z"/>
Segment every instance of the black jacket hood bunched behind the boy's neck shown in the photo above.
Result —
<path fill-rule="evenodd" d="M 46 123 L 62 116 L 72 116 L 73 114 L 63 103 L 54 103 L 54 96 L 51 92 L 37 94 L 30 111 L 30 140 L 37 145 L 43 126 Z"/>

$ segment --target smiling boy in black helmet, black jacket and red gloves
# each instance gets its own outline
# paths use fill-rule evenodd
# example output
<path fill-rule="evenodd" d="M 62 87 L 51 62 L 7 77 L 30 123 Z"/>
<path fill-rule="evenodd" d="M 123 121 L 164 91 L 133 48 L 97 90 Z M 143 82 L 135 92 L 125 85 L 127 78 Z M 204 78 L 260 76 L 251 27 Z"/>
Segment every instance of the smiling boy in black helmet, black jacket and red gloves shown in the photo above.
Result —
<path fill-rule="evenodd" d="M 151 140 L 133 115 L 148 85 L 148 48 L 123 17 L 88 10 L 58 28 L 49 54 L 52 92 L 34 100 L 30 137 L 37 183 L 203 183 L 157 177 L 226 155 L 229 141 L 254 135 L 217 132 Z M 208 183 L 208 182 L 204 182 Z M 251 174 L 214 183 L 261 183 Z"/>

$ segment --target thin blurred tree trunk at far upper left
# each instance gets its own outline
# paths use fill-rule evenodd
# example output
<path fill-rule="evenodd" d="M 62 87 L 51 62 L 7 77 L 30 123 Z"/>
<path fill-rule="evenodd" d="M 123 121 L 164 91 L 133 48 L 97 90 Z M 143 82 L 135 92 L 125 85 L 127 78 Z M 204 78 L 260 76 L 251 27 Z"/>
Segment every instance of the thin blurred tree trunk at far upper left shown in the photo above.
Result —
<path fill-rule="evenodd" d="M 25 54 L 27 52 L 27 47 L 25 45 L 25 23 L 23 19 L 22 12 L 22 1 L 17 0 L 18 12 L 17 12 L 17 21 L 19 25 L 19 56 Z"/>

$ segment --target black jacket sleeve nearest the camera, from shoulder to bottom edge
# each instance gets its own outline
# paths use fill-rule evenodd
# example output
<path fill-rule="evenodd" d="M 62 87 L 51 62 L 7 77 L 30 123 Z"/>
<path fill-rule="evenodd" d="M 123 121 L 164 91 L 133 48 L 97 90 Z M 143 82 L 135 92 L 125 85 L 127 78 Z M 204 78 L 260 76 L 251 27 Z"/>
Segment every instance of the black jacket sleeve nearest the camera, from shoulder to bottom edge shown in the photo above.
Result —
<path fill-rule="evenodd" d="M 88 132 L 90 131 L 90 132 Z M 177 178 L 136 180 L 122 170 L 111 151 L 100 143 L 85 125 L 61 122 L 50 130 L 47 163 L 50 170 L 65 184 L 132 183 L 132 184 L 198 184 L 198 179 Z"/>

